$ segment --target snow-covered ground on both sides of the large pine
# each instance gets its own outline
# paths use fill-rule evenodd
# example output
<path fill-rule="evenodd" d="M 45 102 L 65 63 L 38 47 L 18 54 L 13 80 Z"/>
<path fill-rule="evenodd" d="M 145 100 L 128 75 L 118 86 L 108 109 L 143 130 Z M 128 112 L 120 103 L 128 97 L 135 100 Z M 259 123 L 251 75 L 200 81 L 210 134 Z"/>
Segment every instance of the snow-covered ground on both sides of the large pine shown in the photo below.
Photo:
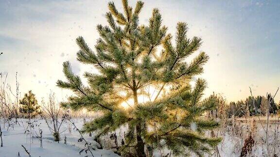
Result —
<path fill-rule="evenodd" d="M 81 128 L 84 119 L 75 119 L 72 122 L 75 126 Z M 0 147 L 0 157 L 29 157 L 22 145 L 30 152 L 31 157 L 90 157 L 91 154 L 85 152 L 85 141 L 78 140 L 81 138 L 79 132 L 75 127 L 69 123 L 64 122 L 60 128 L 61 141 L 53 141 L 53 135 L 47 126 L 45 120 L 41 119 L 31 119 L 33 122 L 32 127 L 28 126 L 28 119 L 18 119 L 18 123 L 12 120 L 10 123 L 3 124 L 0 120 L 0 125 L 2 129 L 2 139 L 3 147 Z M 280 145 L 279 136 L 275 136 L 273 128 L 279 125 L 269 125 L 269 143 L 272 143 L 271 151 L 274 148 L 278 148 Z M 223 141 L 218 145 L 218 152 L 220 157 L 240 157 L 244 141 L 247 137 L 246 129 L 247 126 L 244 123 L 239 123 L 235 126 L 226 126 L 223 129 L 218 130 L 217 134 L 223 137 Z M 40 147 L 40 139 L 37 137 L 39 135 L 39 130 L 42 130 L 42 147 Z M 123 128 L 124 129 L 124 128 Z M 118 141 L 121 143 L 120 132 L 124 130 L 117 131 Z M 32 137 L 33 135 L 33 137 Z M 110 140 L 109 135 L 102 138 L 103 144 L 107 145 L 105 149 L 98 149 L 99 144 L 95 142 L 94 135 L 91 137 L 89 134 L 83 135 L 86 141 L 94 148 L 92 150 L 94 157 L 119 157 L 114 153 L 114 150 L 109 149 L 109 147 L 114 147 L 114 141 Z M 66 137 L 66 144 L 65 144 Z M 252 148 L 253 157 L 265 157 L 266 156 L 266 144 L 265 144 L 265 134 L 262 126 L 258 125 L 256 133 L 254 136 L 255 145 Z M 83 150 L 83 151 L 82 151 Z M 161 150 L 154 152 L 154 157 L 163 157 L 164 155 L 170 153 L 168 150 Z M 213 152 L 214 153 L 214 152 Z M 275 153 L 278 155 L 279 150 L 276 149 Z M 216 154 L 215 154 L 216 155 Z M 213 157 L 215 155 L 207 155 L 208 157 Z"/>

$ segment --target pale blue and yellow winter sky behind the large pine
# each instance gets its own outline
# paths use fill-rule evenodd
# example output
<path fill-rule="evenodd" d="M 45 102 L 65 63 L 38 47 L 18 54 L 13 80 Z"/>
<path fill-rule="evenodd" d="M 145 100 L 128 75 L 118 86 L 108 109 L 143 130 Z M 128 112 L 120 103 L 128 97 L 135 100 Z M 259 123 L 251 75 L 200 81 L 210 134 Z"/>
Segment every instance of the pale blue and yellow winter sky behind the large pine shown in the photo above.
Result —
<path fill-rule="evenodd" d="M 121 0 L 113 0 L 118 9 Z M 162 14 L 168 32 L 188 23 L 188 36 L 199 36 L 210 60 L 201 78 L 206 96 L 222 94 L 227 101 L 275 93 L 280 87 L 280 1 L 278 0 L 143 0 L 140 23 L 153 8 Z M 75 39 L 90 47 L 99 37 L 96 25 L 106 25 L 108 0 L 0 0 L 0 72 L 20 95 L 32 90 L 38 98 L 52 91 L 58 99 L 70 93 L 56 87 L 65 79 L 62 63 L 70 61 L 82 76 L 91 67 L 76 61 Z M 136 0 L 129 0 L 135 6 Z M 198 53 L 196 53 L 198 54 Z M 2 79 L 3 81 L 3 79 Z M 85 80 L 84 80 L 85 81 Z M 280 100 L 280 93 L 275 97 Z"/>

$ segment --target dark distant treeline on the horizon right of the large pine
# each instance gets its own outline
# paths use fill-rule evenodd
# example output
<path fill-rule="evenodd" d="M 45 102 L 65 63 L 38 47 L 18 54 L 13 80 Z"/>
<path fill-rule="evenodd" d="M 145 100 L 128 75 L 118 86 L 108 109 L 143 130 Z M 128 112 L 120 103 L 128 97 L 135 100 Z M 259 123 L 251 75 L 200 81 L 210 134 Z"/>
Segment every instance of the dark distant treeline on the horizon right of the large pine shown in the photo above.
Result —
<path fill-rule="evenodd" d="M 269 101 L 270 100 L 270 101 Z M 265 115 L 269 107 L 269 113 L 276 114 L 280 104 L 276 104 L 270 94 L 265 96 L 249 96 L 246 100 L 229 103 L 228 116 L 242 117 L 248 111 L 250 115 Z"/>

